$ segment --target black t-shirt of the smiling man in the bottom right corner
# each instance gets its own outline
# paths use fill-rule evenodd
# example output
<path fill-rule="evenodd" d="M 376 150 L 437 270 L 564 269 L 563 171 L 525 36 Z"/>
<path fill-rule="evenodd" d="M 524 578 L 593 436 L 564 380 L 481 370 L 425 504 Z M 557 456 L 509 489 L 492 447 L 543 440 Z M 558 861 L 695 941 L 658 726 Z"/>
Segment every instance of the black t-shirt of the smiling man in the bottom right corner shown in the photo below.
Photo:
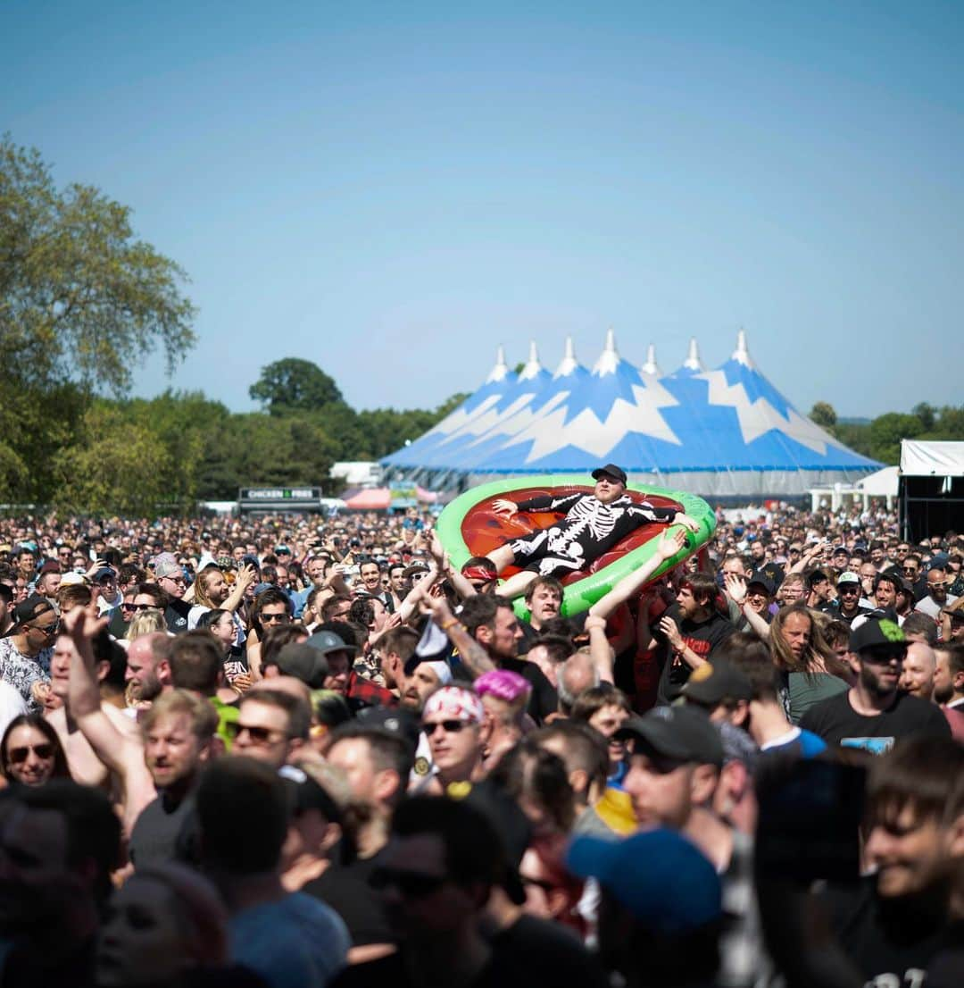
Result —
<path fill-rule="evenodd" d="M 872 877 L 830 884 L 820 898 L 841 946 L 868 984 L 923 985 L 930 959 L 952 940 L 946 908 L 883 899 Z"/>

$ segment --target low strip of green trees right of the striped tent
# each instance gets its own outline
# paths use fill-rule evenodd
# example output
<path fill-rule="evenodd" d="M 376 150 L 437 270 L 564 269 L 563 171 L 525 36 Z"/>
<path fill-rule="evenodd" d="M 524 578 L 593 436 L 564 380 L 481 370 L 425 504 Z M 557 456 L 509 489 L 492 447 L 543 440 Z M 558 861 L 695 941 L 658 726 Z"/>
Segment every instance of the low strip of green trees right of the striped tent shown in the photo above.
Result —
<path fill-rule="evenodd" d="M 909 413 L 887 412 L 870 422 L 841 422 L 833 405 L 818 401 L 810 418 L 855 453 L 883 463 L 900 462 L 902 439 L 964 440 L 964 405 L 935 408 L 921 402 Z"/>

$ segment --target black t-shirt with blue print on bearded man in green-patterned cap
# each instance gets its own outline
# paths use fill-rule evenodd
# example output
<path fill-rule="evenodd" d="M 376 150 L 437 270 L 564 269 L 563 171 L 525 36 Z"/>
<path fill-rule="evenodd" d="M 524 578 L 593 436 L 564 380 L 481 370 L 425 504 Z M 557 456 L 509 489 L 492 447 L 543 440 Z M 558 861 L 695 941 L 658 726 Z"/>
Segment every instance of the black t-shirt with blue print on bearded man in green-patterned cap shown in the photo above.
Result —
<path fill-rule="evenodd" d="M 893 703 L 871 717 L 850 705 L 850 691 L 821 700 L 804 713 L 800 726 L 819 734 L 831 747 L 862 748 L 875 755 L 889 751 L 898 738 L 916 734 L 950 737 L 947 718 L 939 706 L 898 693 Z"/>

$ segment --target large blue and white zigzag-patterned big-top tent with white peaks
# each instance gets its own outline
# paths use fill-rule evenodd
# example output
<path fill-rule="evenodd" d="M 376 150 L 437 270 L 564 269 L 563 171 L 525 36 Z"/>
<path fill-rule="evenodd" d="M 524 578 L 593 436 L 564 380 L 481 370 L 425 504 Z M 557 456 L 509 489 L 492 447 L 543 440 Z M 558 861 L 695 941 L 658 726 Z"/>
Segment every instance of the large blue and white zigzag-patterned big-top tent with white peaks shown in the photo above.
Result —
<path fill-rule="evenodd" d="M 651 346 L 636 367 L 610 330 L 592 371 L 571 341 L 558 370 L 529 361 L 514 377 L 500 350 L 488 381 L 438 426 L 382 460 L 431 486 L 499 476 L 588 473 L 620 464 L 641 483 L 709 497 L 794 497 L 852 483 L 879 467 L 801 415 L 751 360 L 741 331 L 730 360 L 707 371 L 695 341 L 663 375 Z"/>

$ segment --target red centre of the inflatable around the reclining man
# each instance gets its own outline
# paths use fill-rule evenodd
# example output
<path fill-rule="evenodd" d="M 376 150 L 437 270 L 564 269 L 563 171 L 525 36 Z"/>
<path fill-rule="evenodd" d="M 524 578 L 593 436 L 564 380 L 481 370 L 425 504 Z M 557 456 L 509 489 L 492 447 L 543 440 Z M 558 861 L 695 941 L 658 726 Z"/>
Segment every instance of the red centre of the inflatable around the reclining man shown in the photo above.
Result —
<path fill-rule="evenodd" d="M 495 501 L 507 499 L 515 501 L 518 504 L 520 501 L 527 501 L 529 498 L 539 497 L 541 495 L 562 497 L 567 494 L 575 494 L 577 491 L 581 494 L 592 494 L 593 488 L 582 486 L 553 487 L 551 489 L 546 487 L 520 487 L 518 490 L 495 494 L 492 497 L 486 498 L 484 501 L 479 501 L 478 504 L 474 505 L 465 513 L 461 525 L 462 539 L 472 555 L 488 555 L 493 549 L 511 541 L 513 538 L 519 538 L 522 535 L 531 535 L 539 529 L 548 529 L 552 525 L 555 525 L 556 522 L 565 518 L 565 515 L 560 512 L 532 511 L 520 512 L 514 515 L 509 521 L 506 521 L 493 512 L 492 505 Z M 674 501 L 673 498 L 661 497 L 659 494 L 644 494 L 639 491 L 626 491 L 626 493 L 637 504 L 648 501 L 654 508 L 676 508 L 677 511 L 683 511 L 683 505 L 679 501 Z M 587 573 L 598 572 L 604 566 L 608 566 L 610 562 L 615 562 L 620 556 L 638 548 L 654 536 L 660 535 L 665 528 L 666 526 L 662 524 L 641 526 L 632 535 L 627 535 L 621 541 L 617 542 L 608 552 L 600 556 L 587 571 L 570 573 L 562 578 L 562 582 L 564 584 L 576 583 L 586 576 Z M 502 576 L 512 576 L 513 573 L 518 572 L 519 570 L 515 566 L 507 566 Z"/>

